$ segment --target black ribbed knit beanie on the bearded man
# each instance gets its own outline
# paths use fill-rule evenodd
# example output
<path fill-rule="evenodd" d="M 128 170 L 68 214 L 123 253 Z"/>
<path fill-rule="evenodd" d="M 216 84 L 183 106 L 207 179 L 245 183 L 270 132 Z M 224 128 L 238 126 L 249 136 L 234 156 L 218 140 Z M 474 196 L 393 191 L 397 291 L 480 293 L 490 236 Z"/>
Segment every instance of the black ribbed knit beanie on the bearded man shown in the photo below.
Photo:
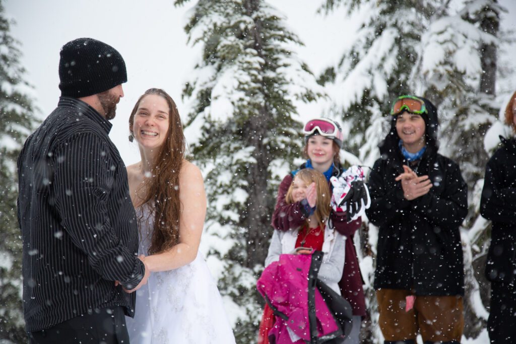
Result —
<path fill-rule="evenodd" d="M 61 96 L 85 97 L 127 82 L 125 62 L 116 49 L 92 38 L 78 38 L 61 48 Z"/>

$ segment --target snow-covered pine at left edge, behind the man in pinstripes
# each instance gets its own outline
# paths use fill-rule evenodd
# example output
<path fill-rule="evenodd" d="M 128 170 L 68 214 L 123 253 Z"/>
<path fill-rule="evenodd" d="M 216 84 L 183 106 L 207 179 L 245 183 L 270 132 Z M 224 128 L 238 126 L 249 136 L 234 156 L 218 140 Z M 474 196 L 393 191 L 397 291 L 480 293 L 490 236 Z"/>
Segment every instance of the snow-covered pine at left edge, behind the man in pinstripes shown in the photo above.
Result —
<path fill-rule="evenodd" d="M 24 81 L 19 43 L 10 34 L 12 21 L 0 0 L 0 341 L 25 342 L 22 312 L 22 242 L 17 220 L 16 160 L 34 129 L 30 86 Z"/>

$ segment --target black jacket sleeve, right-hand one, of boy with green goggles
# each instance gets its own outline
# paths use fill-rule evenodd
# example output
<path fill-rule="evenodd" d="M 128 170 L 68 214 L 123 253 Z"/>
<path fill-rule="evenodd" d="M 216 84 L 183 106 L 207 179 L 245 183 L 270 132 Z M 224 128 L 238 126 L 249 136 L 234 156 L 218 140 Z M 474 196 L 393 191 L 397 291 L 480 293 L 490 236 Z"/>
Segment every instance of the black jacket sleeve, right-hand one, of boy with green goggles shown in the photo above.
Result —
<path fill-rule="evenodd" d="M 467 215 L 467 185 L 457 163 L 449 160 L 444 192 L 436 195 L 432 189 L 415 199 L 412 211 L 416 211 L 434 226 L 457 227 Z"/>

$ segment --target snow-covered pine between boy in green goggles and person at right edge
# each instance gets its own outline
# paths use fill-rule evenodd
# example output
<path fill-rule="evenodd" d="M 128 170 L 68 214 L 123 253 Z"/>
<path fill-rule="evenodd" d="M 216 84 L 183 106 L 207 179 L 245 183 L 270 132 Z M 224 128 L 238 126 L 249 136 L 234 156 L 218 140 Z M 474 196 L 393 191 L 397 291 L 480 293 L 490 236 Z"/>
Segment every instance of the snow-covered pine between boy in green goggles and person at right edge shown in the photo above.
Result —
<path fill-rule="evenodd" d="M 456 13 L 449 9 L 436 13 L 422 39 L 425 50 L 416 67 L 416 73 L 425 76 L 421 83 L 425 96 L 440 109 L 441 151 L 459 163 L 469 186 L 470 212 L 461 235 L 467 338 L 476 338 L 485 329 L 488 317 L 480 297 L 488 290 L 482 259 L 487 250 L 487 226 L 479 216 L 479 202 L 488 159 L 483 139 L 499 110 L 494 91 L 501 11 L 496 2 L 481 0 L 465 2 Z M 482 282 L 480 286 L 477 279 Z"/>

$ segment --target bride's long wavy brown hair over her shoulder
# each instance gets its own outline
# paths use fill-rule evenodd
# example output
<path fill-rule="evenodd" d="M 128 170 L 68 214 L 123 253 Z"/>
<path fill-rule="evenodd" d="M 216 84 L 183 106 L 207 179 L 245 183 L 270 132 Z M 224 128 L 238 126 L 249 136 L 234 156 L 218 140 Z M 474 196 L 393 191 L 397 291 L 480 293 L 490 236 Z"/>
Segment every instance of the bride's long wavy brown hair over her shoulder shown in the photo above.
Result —
<path fill-rule="evenodd" d="M 186 143 L 178 108 L 172 97 L 158 88 L 148 89 L 136 102 L 129 118 L 131 135 L 134 136 L 134 116 L 138 111 L 138 106 L 141 100 L 150 94 L 163 97 L 169 107 L 167 138 L 159 148 L 154 166 L 152 166 L 152 177 L 147 178 L 142 186 L 143 190 L 146 190 L 142 204 L 150 204 L 154 208 L 154 231 L 148 252 L 154 254 L 171 249 L 179 240 L 181 213 L 179 172 L 185 156 Z"/>

